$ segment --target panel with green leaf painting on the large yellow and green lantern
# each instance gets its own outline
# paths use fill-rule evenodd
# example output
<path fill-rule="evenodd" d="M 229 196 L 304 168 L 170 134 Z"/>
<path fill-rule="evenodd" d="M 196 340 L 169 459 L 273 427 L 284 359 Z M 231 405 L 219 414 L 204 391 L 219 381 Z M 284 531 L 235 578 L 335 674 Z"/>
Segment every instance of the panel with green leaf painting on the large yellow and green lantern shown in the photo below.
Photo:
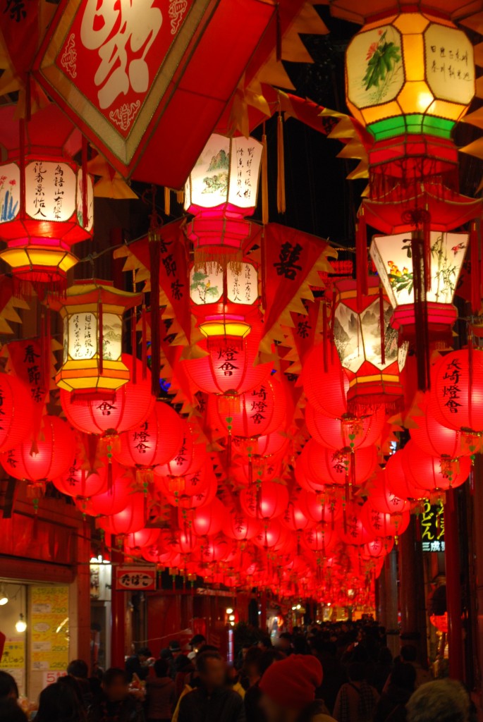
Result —
<path fill-rule="evenodd" d="M 387 58 L 384 73 L 376 63 L 382 48 Z M 347 48 L 347 97 L 357 108 L 394 100 L 404 85 L 402 41 L 399 30 L 381 25 L 360 32 Z"/>

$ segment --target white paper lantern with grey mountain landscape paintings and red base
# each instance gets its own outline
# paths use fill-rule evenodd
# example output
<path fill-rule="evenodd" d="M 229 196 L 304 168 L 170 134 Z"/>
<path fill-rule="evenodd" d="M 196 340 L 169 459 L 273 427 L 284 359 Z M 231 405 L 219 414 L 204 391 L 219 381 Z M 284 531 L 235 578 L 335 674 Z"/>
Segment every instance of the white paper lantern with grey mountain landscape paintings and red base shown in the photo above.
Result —
<path fill-rule="evenodd" d="M 367 279 L 367 287 L 367 295 L 358 299 L 355 281 L 336 284 L 334 342 L 349 375 L 347 401 L 355 410 L 397 405 L 403 393 L 399 374 L 407 348 L 398 347 L 390 323 L 393 310 L 380 295 L 378 278 Z"/>

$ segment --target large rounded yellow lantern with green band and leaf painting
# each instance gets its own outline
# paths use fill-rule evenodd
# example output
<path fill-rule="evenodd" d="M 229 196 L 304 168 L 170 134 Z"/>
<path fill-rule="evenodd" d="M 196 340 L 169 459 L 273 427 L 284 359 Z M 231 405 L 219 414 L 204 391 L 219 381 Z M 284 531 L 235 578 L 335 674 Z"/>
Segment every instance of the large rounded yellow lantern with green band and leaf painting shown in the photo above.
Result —
<path fill-rule="evenodd" d="M 450 139 L 474 94 L 473 46 L 449 18 L 369 18 L 347 48 L 347 105 L 376 141 L 402 134 Z"/>

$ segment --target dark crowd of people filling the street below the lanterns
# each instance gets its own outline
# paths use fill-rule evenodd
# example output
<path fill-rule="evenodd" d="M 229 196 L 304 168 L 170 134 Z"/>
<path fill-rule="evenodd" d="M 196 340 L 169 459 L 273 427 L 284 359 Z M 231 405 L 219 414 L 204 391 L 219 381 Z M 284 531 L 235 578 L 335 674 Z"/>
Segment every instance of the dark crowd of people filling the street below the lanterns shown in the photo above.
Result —
<path fill-rule="evenodd" d="M 316 625 L 245 644 L 233 665 L 195 635 L 153 659 L 89 677 L 74 660 L 40 693 L 35 722 L 469 722 L 469 696 L 430 681 L 404 645 L 395 659 L 373 625 Z M 0 671 L 0 722 L 26 722 L 17 684 Z"/>

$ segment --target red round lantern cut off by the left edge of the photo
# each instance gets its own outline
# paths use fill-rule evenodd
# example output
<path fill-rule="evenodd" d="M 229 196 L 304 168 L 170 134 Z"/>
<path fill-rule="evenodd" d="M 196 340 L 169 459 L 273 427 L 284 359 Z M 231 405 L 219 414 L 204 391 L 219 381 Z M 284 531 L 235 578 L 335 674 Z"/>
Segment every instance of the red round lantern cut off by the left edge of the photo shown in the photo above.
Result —
<path fill-rule="evenodd" d="M 33 404 L 16 376 L 0 373 L 0 452 L 18 446 L 30 433 Z"/>

